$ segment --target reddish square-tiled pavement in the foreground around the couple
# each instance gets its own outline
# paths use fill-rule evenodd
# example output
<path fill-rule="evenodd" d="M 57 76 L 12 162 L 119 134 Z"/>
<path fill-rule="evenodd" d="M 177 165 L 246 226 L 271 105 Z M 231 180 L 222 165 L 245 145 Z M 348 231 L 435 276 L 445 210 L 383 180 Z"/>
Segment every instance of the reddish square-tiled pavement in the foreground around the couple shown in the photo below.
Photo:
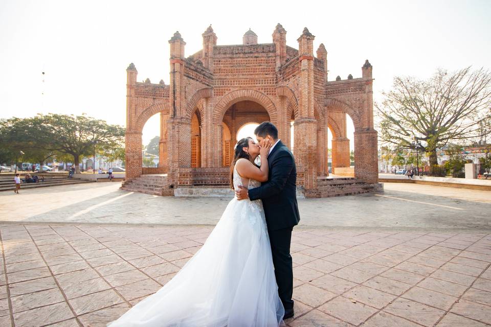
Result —
<path fill-rule="evenodd" d="M 105 326 L 212 227 L 2 225 L 0 326 Z M 491 325 L 491 235 L 294 230 L 289 326 Z"/>

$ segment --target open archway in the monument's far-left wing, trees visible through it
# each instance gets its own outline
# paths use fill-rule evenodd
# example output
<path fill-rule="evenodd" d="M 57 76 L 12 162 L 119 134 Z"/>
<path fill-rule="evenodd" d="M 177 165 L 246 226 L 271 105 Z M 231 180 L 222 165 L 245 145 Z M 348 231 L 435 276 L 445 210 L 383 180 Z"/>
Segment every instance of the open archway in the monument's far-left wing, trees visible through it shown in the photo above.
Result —
<path fill-rule="evenodd" d="M 142 129 L 142 167 L 159 167 L 161 113 L 152 115 Z"/>

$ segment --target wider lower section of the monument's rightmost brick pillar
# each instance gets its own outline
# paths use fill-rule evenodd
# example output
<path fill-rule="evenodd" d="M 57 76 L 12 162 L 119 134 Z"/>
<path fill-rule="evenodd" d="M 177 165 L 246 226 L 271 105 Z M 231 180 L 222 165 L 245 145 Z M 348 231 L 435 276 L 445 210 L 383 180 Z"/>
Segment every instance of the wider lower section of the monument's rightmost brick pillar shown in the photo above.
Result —
<path fill-rule="evenodd" d="M 354 132 L 354 177 L 367 183 L 378 182 L 376 130 Z"/>

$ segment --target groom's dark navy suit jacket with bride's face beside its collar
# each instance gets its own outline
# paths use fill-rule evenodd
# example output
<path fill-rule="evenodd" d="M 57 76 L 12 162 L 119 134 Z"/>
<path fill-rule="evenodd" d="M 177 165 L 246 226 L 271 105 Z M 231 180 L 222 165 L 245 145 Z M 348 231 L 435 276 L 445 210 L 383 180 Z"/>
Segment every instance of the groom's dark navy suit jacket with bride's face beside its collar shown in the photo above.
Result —
<path fill-rule="evenodd" d="M 267 181 L 259 188 L 249 190 L 249 198 L 251 201 L 262 200 L 268 230 L 293 227 L 300 221 L 295 158 L 279 141 L 267 156 L 267 165 Z"/>

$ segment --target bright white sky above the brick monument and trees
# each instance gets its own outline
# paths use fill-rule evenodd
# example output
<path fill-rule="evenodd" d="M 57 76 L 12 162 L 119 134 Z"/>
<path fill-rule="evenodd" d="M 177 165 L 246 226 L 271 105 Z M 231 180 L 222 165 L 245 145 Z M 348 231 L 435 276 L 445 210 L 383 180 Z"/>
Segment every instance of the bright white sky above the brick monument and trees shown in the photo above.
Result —
<path fill-rule="evenodd" d="M 139 81 L 148 77 L 168 84 L 170 37 L 180 31 L 187 57 L 202 49 L 202 33 L 210 24 L 218 44 L 240 44 L 249 28 L 259 43 L 271 43 L 280 22 L 294 48 L 307 27 L 316 36 L 314 49 L 321 42 L 327 49 L 328 79 L 361 77 L 369 59 L 374 99 L 381 101 L 380 91 L 391 87 L 394 76 L 428 78 L 438 67 L 489 68 L 490 16 L 487 0 L 3 0 L 0 118 L 85 112 L 125 125 L 128 64 L 135 63 Z M 352 132 L 352 126 L 348 129 Z M 155 135 L 158 120 L 152 119 L 144 143 Z"/>

